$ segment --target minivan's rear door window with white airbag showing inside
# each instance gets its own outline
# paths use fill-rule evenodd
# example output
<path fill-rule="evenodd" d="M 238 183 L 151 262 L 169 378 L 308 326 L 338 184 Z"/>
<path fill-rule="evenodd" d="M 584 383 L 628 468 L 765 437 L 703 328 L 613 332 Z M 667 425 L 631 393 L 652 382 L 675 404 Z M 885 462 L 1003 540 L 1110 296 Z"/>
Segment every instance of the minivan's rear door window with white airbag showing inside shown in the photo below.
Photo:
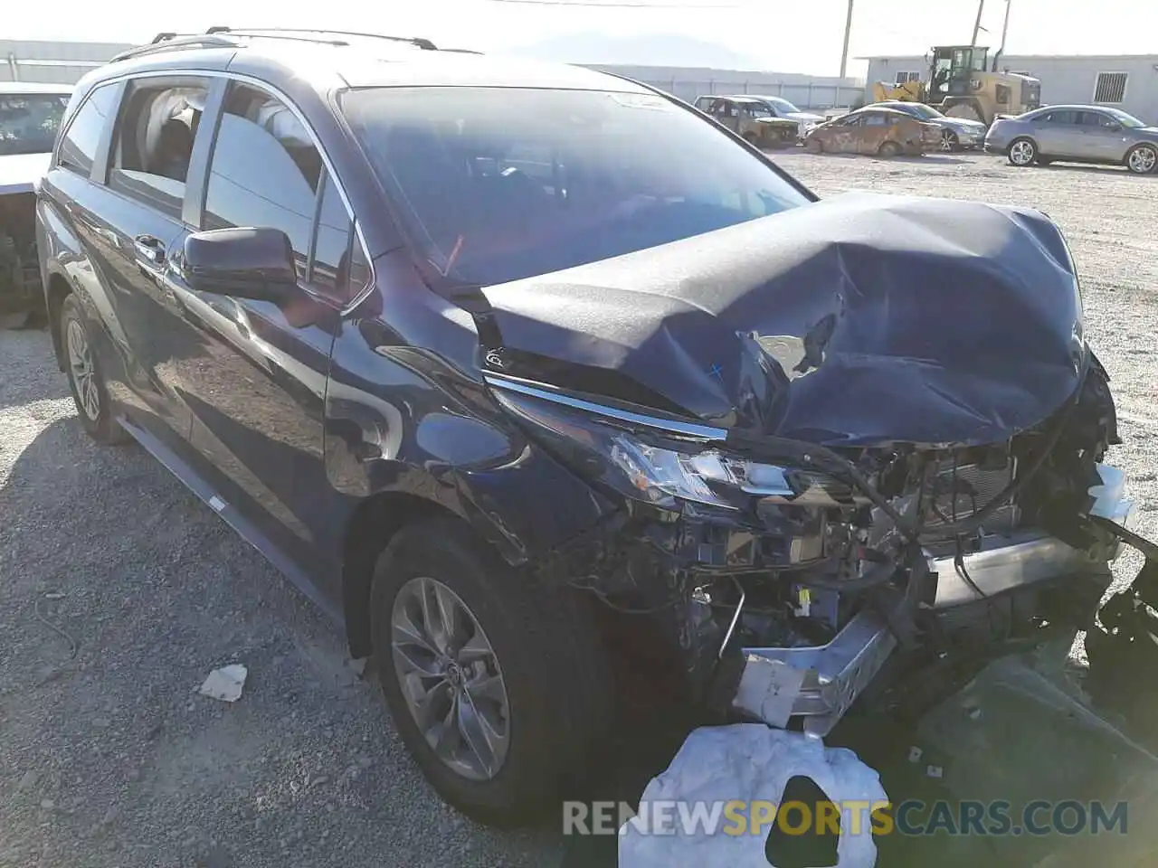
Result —
<path fill-rule="evenodd" d="M 132 83 L 112 144 L 109 186 L 179 218 L 207 93 L 204 79 Z"/>

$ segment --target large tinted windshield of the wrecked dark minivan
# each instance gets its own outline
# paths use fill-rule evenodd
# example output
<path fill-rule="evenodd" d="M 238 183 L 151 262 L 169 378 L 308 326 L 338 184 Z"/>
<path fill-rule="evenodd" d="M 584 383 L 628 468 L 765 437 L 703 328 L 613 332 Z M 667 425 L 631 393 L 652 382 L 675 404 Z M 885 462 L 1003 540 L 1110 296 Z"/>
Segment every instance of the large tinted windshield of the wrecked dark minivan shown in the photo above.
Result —
<path fill-rule="evenodd" d="M 412 242 L 452 285 L 545 274 L 808 201 L 651 94 L 369 88 L 342 106 Z"/>

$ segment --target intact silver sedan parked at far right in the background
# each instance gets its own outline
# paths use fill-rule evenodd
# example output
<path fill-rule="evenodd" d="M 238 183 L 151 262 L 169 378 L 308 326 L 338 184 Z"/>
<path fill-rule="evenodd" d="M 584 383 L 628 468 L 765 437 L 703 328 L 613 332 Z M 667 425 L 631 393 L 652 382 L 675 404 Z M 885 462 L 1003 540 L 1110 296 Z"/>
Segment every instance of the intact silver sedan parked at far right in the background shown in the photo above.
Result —
<path fill-rule="evenodd" d="M 1105 105 L 1050 105 L 995 120 L 985 150 L 1013 165 L 1105 163 L 1148 175 L 1158 168 L 1158 127 Z"/>

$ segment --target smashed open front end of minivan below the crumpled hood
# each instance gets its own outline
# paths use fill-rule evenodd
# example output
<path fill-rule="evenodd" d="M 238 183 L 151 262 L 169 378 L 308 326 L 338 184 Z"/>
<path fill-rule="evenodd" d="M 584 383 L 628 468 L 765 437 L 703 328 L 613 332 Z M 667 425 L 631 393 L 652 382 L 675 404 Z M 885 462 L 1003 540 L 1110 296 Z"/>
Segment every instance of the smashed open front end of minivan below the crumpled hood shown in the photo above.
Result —
<path fill-rule="evenodd" d="M 532 391 L 501 400 L 569 448 L 566 411 Z M 896 652 L 945 657 L 1089 627 L 1120 547 L 1091 516 L 1124 527 L 1133 509 L 1101 463 L 1117 442 L 1092 356 L 1071 400 L 1003 443 L 841 451 L 731 432 L 669 461 L 703 485 L 698 501 L 670 498 L 643 466 L 644 451 L 662 464 L 677 443 L 621 439 L 610 463 L 651 502 L 629 501 L 555 568 L 662 624 L 697 699 L 824 735 Z"/>

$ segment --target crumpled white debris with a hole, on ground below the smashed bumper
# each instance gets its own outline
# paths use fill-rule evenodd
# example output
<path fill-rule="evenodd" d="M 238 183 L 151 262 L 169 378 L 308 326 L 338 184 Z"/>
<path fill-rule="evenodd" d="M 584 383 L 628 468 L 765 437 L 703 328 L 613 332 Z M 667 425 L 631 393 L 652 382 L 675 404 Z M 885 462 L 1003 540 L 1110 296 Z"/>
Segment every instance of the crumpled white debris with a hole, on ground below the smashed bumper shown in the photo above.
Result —
<path fill-rule="evenodd" d="M 811 778 L 841 811 L 837 868 L 873 868 L 872 806 L 888 799 L 877 772 L 851 750 L 826 748 L 819 738 L 762 723 L 704 727 L 688 736 L 667 770 L 647 785 L 639 816 L 620 829 L 620 868 L 769 868 L 764 847 L 772 826 L 760 834 L 749 826 L 738 834 L 728 817 L 735 816 L 736 802 L 779 804 L 797 775 Z M 675 821 L 662 832 L 639 822 L 657 816 L 647 806 L 667 808 L 673 802 Z M 710 822 L 682 822 L 697 811 L 711 816 L 716 806 L 728 803 L 732 812 L 717 815 L 710 830 Z M 749 809 L 749 823 L 753 817 Z"/>

